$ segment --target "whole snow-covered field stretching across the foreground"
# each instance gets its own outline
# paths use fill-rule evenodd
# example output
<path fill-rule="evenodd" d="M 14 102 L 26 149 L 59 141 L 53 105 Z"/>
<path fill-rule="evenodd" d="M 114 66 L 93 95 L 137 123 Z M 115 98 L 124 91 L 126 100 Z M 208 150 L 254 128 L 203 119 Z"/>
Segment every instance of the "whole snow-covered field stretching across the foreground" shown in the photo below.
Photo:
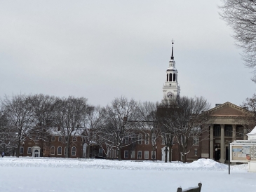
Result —
<path fill-rule="evenodd" d="M 202 182 L 202 192 L 255 191 L 247 165 L 66 158 L 0 158 L 0 191 L 166 191 Z"/>

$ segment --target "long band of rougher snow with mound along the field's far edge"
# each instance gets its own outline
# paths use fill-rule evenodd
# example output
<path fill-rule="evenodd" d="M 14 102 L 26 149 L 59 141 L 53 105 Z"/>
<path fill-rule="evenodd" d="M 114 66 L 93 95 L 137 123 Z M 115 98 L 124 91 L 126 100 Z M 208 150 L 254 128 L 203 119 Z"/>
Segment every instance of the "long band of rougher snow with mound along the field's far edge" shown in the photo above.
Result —
<path fill-rule="evenodd" d="M 198 159 L 193 163 L 157 163 L 151 160 L 102 160 L 102 159 L 74 159 L 74 158 L 30 158 L 5 157 L 0 158 L 0 167 L 65 167 L 65 168 L 93 168 L 112 170 L 227 170 L 228 165 L 217 163 L 215 160 Z M 233 170 L 246 170 L 246 166 L 231 166 Z"/>

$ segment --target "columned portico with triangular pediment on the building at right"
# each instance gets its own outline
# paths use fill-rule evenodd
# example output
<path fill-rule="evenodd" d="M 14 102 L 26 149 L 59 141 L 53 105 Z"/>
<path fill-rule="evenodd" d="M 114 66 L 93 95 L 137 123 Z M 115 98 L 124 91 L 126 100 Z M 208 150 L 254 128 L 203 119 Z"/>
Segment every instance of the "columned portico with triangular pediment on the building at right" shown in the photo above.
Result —
<path fill-rule="evenodd" d="M 210 114 L 208 157 L 225 163 L 228 160 L 229 142 L 247 139 L 246 133 L 254 126 L 245 122 L 250 112 L 230 102 L 216 104 L 206 112 Z M 203 155 L 206 156 L 206 153 Z"/>

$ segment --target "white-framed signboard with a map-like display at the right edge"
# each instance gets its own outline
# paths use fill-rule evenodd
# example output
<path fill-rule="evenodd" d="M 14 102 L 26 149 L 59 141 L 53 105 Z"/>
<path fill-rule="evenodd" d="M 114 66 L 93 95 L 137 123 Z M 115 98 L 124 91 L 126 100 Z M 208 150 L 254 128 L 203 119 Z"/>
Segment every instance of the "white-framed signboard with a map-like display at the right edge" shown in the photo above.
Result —
<path fill-rule="evenodd" d="M 231 143 L 230 161 L 241 163 L 256 162 L 256 143 Z"/>

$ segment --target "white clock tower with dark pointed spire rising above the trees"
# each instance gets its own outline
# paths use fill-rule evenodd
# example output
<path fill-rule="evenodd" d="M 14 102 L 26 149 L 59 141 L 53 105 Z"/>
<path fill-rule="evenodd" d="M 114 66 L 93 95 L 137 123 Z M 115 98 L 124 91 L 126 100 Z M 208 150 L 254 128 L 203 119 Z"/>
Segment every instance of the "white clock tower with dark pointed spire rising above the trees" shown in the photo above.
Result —
<path fill-rule="evenodd" d="M 172 44 L 174 44 L 174 41 L 172 41 Z M 172 56 L 170 57 L 169 67 L 166 69 L 166 82 L 163 85 L 163 99 L 177 97 L 177 95 L 180 95 L 180 85 L 177 82 L 177 69 L 175 68 L 172 46 Z"/>

